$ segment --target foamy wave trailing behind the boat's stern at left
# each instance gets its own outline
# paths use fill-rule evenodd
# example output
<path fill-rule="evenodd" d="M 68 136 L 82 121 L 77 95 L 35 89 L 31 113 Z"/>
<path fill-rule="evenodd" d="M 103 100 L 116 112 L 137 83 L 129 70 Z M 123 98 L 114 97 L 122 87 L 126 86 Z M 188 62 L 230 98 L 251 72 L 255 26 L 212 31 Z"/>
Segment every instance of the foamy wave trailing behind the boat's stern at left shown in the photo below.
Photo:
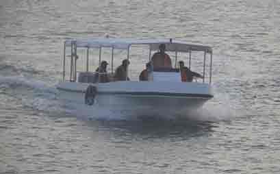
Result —
<path fill-rule="evenodd" d="M 23 76 L 0 76 L 0 91 L 3 95 L 14 98 L 14 102 L 21 101 L 23 107 L 40 111 L 64 112 L 57 99 L 55 86 Z"/>

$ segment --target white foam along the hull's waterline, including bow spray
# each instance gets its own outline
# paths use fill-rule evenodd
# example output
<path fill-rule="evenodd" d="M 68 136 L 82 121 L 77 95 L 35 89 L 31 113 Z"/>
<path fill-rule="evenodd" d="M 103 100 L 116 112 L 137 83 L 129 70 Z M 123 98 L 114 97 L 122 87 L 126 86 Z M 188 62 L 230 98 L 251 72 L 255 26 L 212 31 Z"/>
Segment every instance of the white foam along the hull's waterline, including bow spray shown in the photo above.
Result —
<path fill-rule="evenodd" d="M 22 99 L 23 105 L 34 110 L 44 112 L 60 112 L 75 115 L 81 119 L 102 119 L 102 120 L 136 120 L 140 115 L 131 110 L 110 110 L 110 108 L 98 108 L 84 105 L 84 103 L 71 103 L 71 101 L 58 100 L 58 90 L 45 82 L 35 79 L 27 79 L 22 76 L 1 77 L 0 88 L 13 86 L 26 86 L 34 89 L 30 96 Z M 186 113 L 183 117 L 199 121 L 220 121 L 229 120 L 236 115 L 233 112 L 233 103 L 230 103 L 229 96 L 218 92 L 215 93 L 214 100 L 207 101 L 203 108 Z M 16 94 L 15 94 L 16 95 Z M 232 105 L 233 104 L 233 105 Z M 142 116 L 143 118 L 145 116 Z M 153 116 L 147 116 L 153 117 Z M 160 119 L 177 119 L 182 116 L 165 115 L 162 113 Z"/>

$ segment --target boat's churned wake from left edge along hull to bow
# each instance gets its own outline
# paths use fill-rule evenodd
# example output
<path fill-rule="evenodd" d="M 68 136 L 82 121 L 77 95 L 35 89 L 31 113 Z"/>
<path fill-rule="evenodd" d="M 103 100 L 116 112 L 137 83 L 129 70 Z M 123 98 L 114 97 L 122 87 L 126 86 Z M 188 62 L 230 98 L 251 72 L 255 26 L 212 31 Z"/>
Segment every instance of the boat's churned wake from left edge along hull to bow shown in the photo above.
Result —
<path fill-rule="evenodd" d="M 166 115 L 141 115 L 133 113 L 131 110 L 110 110 L 110 108 L 100 108 L 84 105 L 83 103 L 72 103 L 71 101 L 60 101 L 58 90 L 45 82 L 35 79 L 28 79 L 23 76 L 0 76 L 0 93 L 14 99 L 11 101 L 21 103 L 23 108 L 31 108 L 41 112 L 51 112 L 52 115 L 71 115 L 79 119 L 118 121 L 137 121 L 143 119 L 192 119 L 197 121 L 220 121 L 229 120 L 233 116 L 225 105 L 209 102 L 200 108 L 186 115 L 174 116 Z M 3 103 L 9 105 L 9 103 Z M 227 109 L 225 109 L 227 108 Z"/>

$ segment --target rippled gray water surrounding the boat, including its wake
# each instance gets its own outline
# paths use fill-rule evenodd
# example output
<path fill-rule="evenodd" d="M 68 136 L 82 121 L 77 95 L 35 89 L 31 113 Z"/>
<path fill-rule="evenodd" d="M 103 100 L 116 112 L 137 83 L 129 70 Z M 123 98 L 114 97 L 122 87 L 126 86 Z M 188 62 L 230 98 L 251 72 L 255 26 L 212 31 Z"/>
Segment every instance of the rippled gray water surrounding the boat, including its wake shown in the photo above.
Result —
<path fill-rule="evenodd" d="M 277 0 L 1 0 L 0 173 L 280 173 L 279 28 Z M 197 121 L 62 105 L 62 42 L 105 34 L 212 46 L 214 99 Z"/>

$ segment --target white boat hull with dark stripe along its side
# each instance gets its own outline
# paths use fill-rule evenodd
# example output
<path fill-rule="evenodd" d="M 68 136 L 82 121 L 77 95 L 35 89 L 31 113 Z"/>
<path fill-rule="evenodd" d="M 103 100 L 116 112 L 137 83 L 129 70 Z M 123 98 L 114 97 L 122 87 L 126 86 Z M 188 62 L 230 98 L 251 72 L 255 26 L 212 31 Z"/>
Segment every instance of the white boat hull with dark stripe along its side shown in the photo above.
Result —
<path fill-rule="evenodd" d="M 204 84 L 114 82 L 91 84 L 98 92 L 94 104 L 86 105 L 85 91 L 89 85 L 63 82 L 58 85 L 60 99 L 85 105 L 87 109 L 103 108 L 138 116 L 173 116 L 197 110 L 213 97 L 211 88 Z"/>

